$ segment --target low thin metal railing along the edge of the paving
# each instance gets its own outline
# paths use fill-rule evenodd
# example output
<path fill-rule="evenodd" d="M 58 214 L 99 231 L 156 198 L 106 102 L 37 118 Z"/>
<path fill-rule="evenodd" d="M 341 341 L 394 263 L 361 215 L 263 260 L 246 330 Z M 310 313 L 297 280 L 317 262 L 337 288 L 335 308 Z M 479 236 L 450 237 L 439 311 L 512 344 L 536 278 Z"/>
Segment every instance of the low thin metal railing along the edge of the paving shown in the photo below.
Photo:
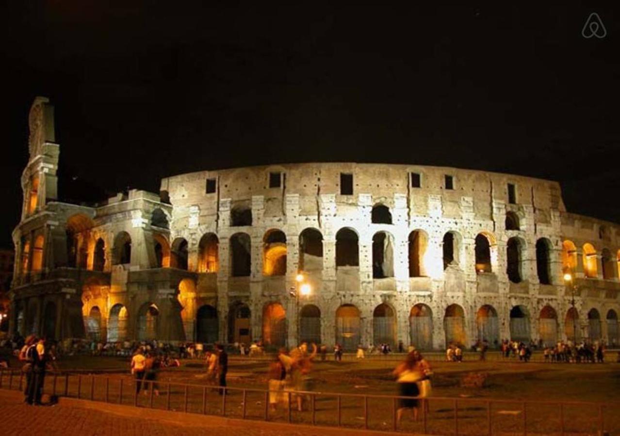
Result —
<path fill-rule="evenodd" d="M 65 396 L 68 398 L 88 399 L 91 401 L 104 401 L 105 403 L 124 404 L 130 406 L 148 407 L 151 409 L 162 409 L 167 411 L 182 411 L 193 412 L 203 415 L 221 415 L 228 417 L 239 417 L 241 419 L 262 419 L 264 421 L 273 421 L 277 419 L 278 413 L 274 414 L 270 412 L 269 396 L 270 393 L 280 395 L 285 399 L 285 421 L 293 422 L 293 412 L 303 415 L 303 419 L 297 419 L 295 422 L 300 424 L 311 425 L 335 425 L 338 427 L 358 428 L 358 429 L 383 429 L 383 430 L 402 430 L 399 429 L 399 422 L 397 419 L 397 410 L 399 409 L 399 400 L 412 399 L 412 397 L 395 396 L 395 395 L 367 395 L 367 394 L 355 394 L 355 393 L 336 393 L 336 392 L 319 392 L 319 391 L 288 391 L 278 390 L 270 391 L 257 388 L 238 388 L 226 386 L 213 386 L 213 385 L 197 385 L 192 383 L 177 383 L 177 382 L 161 382 L 151 380 L 136 380 L 131 378 L 127 380 L 122 377 L 109 377 L 107 375 L 95 375 L 86 373 L 72 373 L 72 372 L 48 372 L 46 380 L 51 380 L 50 386 L 44 386 L 44 393 L 53 396 Z M 60 389 L 59 389 L 60 382 Z M 0 368 L 0 388 L 9 390 L 22 390 L 25 385 L 25 375 L 20 370 L 7 370 Z M 136 383 L 141 383 L 144 387 L 144 391 L 148 392 L 148 398 L 146 404 L 144 401 L 140 401 L 140 395 L 138 389 L 136 389 Z M 157 386 L 165 386 L 164 395 L 157 396 L 157 401 L 164 402 L 163 406 L 156 407 L 154 404 L 154 391 Z M 128 391 L 130 389 L 131 391 Z M 86 392 L 84 392 L 86 391 Z M 115 395 L 113 392 L 115 391 Z M 210 393 L 217 392 L 218 399 L 210 399 Z M 179 398 L 179 393 L 182 395 Z M 198 395 L 196 395 L 198 393 Z M 174 398 L 173 398 L 174 396 Z M 213 394 L 211 394 L 213 396 Z M 261 406 L 259 414 L 249 414 L 249 400 L 250 396 L 254 398 L 260 398 L 261 401 L 257 401 L 255 405 Z M 309 409 L 306 411 L 293 411 L 293 403 L 299 397 L 304 398 L 309 404 Z M 192 398 L 190 398 L 192 397 Z M 241 397 L 241 398 L 239 398 Z M 241 405 L 236 410 L 232 408 L 230 402 L 232 399 L 241 399 Z M 174 399 L 174 407 L 173 400 Z M 326 400 L 327 399 L 327 400 Z M 335 408 L 327 408 L 322 411 L 327 412 L 328 419 L 317 420 L 317 413 L 321 410 L 317 408 L 317 401 L 335 401 Z M 432 424 L 430 415 L 430 404 L 448 404 L 448 408 L 436 409 L 433 414 L 442 414 L 448 412 L 451 416 L 447 415 L 436 417 L 435 424 L 439 424 L 441 427 L 440 434 L 453 433 L 455 435 L 466 434 L 463 432 L 464 424 L 471 424 L 475 422 L 476 430 L 469 434 L 489 434 L 495 433 L 494 425 L 501 425 L 502 432 L 509 430 L 511 433 L 523 433 L 524 435 L 530 433 L 538 434 L 560 434 L 564 435 L 566 432 L 570 434 L 583 433 L 591 434 L 592 430 L 598 432 L 599 435 L 606 434 L 605 432 L 618 432 L 620 431 L 620 403 L 593 403 L 587 401 L 520 401 L 510 399 L 488 399 L 488 398 L 450 398 L 450 397 L 428 397 L 417 398 L 420 400 L 420 412 L 422 414 L 422 421 L 417 422 L 416 432 L 428 434 L 430 430 L 436 434 L 436 429 L 430 429 Z M 370 401 L 374 403 L 385 403 L 387 408 L 384 408 L 383 414 L 379 416 L 379 421 L 383 422 L 383 425 L 371 425 L 370 415 L 371 407 Z M 348 404 L 345 404 L 348 403 Z M 359 419 L 362 421 L 361 425 L 348 425 L 343 421 L 343 409 L 350 409 L 353 406 L 360 408 L 363 412 Z M 384 404 L 384 405 L 385 405 Z M 479 405 L 484 406 L 480 407 Z M 500 422 L 493 416 L 493 411 L 497 411 L 497 406 L 514 406 L 519 405 L 518 410 L 508 411 L 510 414 L 515 415 L 513 422 L 507 421 L 508 418 L 502 417 Z M 215 405 L 215 406 L 214 406 Z M 478 405 L 476 407 L 476 405 Z M 190 406 L 192 406 L 190 408 Z M 472 407 L 473 406 L 473 407 Z M 552 411 L 557 412 L 557 426 L 550 429 L 550 426 L 541 427 L 541 422 L 549 424 L 553 421 L 554 413 L 542 412 L 541 409 L 552 408 Z M 257 408 L 254 408 L 254 411 Z M 572 418 L 568 416 L 569 409 L 573 410 Z M 581 424 L 588 424 L 588 430 L 576 431 L 573 427 L 575 422 L 581 418 L 576 416 L 576 410 L 587 411 L 587 416 L 590 417 L 588 422 L 581 421 Z M 379 409 L 377 409 L 379 410 Z M 480 412 L 476 416 L 467 416 L 467 412 L 476 411 Z M 606 412 L 611 413 L 606 414 Z M 385 412 L 389 412 L 389 419 L 384 421 Z M 500 411 L 497 411 L 500 412 Z M 538 413 L 538 416 L 534 416 Z M 520 414 L 518 419 L 520 424 L 516 422 L 516 415 Z M 273 415 L 273 416 L 272 416 Z M 376 416 L 374 416 L 376 421 Z M 529 421 L 528 421 L 529 418 Z M 471 421 L 473 419 L 474 421 Z M 550 421 L 551 420 L 551 421 Z M 349 420 L 350 421 L 350 420 Z M 448 421 L 451 424 L 448 424 Z M 510 424 L 508 429 L 507 424 Z M 569 427 L 570 429 L 567 428 Z M 436 427 L 437 425 L 435 425 Z M 471 425 L 469 425 L 471 427 Z M 516 427 L 516 428 L 515 428 Z M 553 427 L 553 426 L 551 426 Z M 449 431 L 448 429 L 451 429 Z M 410 431 L 410 430 L 409 430 Z"/>

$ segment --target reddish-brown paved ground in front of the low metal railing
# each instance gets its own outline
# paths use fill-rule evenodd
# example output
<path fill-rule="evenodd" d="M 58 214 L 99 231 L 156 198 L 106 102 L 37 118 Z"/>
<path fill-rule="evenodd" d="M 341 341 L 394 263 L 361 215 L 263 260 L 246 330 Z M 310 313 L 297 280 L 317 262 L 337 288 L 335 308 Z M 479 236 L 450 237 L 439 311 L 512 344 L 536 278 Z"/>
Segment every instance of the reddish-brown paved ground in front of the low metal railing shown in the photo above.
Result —
<path fill-rule="evenodd" d="M 17 391 L 0 390 L 1 434 L 7 435 L 343 435 L 342 429 L 241 421 L 61 398 L 55 406 L 27 406 Z M 376 435 L 377 432 L 346 434 Z M 381 432 L 381 435 L 389 433 Z"/>

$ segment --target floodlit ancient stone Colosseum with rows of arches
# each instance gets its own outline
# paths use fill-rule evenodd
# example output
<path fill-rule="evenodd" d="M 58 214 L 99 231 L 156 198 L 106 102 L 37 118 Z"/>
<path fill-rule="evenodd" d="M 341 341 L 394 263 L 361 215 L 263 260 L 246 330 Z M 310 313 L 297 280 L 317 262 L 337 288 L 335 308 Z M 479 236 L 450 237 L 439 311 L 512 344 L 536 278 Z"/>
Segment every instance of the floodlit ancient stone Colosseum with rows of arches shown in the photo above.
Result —
<path fill-rule="evenodd" d="M 29 115 L 12 333 L 102 341 L 618 344 L 620 226 L 559 183 L 460 168 L 291 163 L 58 200 L 53 107 Z"/>

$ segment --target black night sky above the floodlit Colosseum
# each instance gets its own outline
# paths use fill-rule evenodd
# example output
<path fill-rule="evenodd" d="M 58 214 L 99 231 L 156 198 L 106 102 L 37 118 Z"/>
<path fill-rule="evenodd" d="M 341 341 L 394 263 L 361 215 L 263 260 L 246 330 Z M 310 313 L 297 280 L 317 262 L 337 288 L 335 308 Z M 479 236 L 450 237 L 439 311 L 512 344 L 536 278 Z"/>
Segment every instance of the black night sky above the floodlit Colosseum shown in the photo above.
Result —
<path fill-rule="evenodd" d="M 195 170 L 394 162 L 558 180 L 569 211 L 620 222 L 618 9 L 33 3 L 0 14 L 0 245 L 35 95 L 56 107 L 65 199 Z M 591 12 L 606 37 L 582 37 Z"/>

